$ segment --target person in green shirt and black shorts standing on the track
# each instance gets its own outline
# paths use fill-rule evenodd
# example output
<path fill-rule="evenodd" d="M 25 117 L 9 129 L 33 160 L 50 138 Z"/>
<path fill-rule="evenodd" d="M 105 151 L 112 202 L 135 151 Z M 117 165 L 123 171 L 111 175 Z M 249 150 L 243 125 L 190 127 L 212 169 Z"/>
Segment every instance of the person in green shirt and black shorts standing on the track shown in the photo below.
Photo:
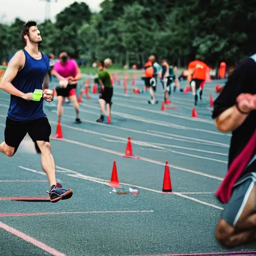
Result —
<path fill-rule="evenodd" d="M 99 105 L 101 114 L 96 122 L 103 122 L 104 116 L 107 116 L 107 123 L 111 123 L 110 108 L 111 108 L 111 98 L 113 95 L 113 86 L 111 83 L 110 74 L 106 71 L 106 68 L 111 65 L 111 60 L 109 58 L 104 61 L 98 61 L 98 84 L 99 84 Z M 106 110 L 105 110 L 106 105 Z"/>

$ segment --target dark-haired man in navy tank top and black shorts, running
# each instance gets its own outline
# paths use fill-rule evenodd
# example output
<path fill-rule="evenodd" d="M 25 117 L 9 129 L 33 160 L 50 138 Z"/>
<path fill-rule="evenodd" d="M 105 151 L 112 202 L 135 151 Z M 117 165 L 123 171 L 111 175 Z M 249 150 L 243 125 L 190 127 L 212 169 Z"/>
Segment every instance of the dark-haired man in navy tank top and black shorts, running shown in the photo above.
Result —
<path fill-rule="evenodd" d="M 22 39 L 26 46 L 10 59 L 0 83 L 0 89 L 10 94 L 4 141 L 0 144 L 0 151 L 13 156 L 28 132 L 41 151 L 42 169 L 47 174 L 50 185 L 50 201 L 57 202 L 70 198 L 73 192 L 56 183 L 55 164 L 50 151 L 51 127 L 43 112 L 43 99 L 48 102 L 53 100 L 53 93 L 48 90 L 49 59 L 39 51 L 42 39 L 36 22 L 28 21 L 23 25 Z M 35 89 L 42 90 L 40 101 L 32 100 Z"/>

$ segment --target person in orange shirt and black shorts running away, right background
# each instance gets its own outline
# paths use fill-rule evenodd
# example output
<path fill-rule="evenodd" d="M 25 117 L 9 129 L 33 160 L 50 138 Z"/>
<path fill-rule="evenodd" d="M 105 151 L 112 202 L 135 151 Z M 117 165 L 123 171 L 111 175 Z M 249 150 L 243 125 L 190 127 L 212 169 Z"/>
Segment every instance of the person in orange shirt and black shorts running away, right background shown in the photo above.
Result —
<path fill-rule="evenodd" d="M 192 75 L 190 86 L 194 95 L 194 105 L 197 104 L 198 95 L 202 99 L 202 90 L 206 79 L 207 65 L 200 61 L 191 61 L 188 65 L 188 71 Z"/>

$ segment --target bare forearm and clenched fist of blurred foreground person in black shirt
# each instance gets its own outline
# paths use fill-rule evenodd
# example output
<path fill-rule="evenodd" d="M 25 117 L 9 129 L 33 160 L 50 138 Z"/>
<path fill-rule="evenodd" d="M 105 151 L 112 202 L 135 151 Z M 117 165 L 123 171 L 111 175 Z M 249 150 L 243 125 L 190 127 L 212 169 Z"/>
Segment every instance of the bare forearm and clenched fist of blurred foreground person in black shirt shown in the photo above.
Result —
<path fill-rule="evenodd" d="M 222 132 L 230 132 L 238 128 L 248 117 L 250 111 L 256 110 L 256 94 L 240 94 L 237 105 L 223 111 L 214 119 L 216 127 Z"/>

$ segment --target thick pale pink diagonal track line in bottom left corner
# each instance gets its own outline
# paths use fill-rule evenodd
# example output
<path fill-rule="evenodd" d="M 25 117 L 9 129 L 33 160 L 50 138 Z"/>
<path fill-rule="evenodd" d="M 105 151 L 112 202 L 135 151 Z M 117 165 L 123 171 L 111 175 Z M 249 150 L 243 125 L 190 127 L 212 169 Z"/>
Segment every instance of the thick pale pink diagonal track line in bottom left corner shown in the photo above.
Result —
<path fill-rule="evenodd" d="M 4 224 L 3 222 L 0 221 L 0 228 L 12 233 L 12 234 L 15 234 L 16 236 L 24 239 L 25 241 L 27 242 L 30 242 L 32 243 L 33 245 L 49 252 L 50 254 L 54 255 L 54 256 L 66 256 L 66 254 L 60 252 L 60 251 L 57 251 L 49 246 L 47 246 L 46 244 L 42 243 L 42 242 L 39 242 L 37 241 L 36 239 L 34 239 L 33 237 L 31 236 L 28 236 L 20 231 L 18 231 L 17 229 L 11 227 L 11 226 L 8 226 L 6 224 Z"/>

